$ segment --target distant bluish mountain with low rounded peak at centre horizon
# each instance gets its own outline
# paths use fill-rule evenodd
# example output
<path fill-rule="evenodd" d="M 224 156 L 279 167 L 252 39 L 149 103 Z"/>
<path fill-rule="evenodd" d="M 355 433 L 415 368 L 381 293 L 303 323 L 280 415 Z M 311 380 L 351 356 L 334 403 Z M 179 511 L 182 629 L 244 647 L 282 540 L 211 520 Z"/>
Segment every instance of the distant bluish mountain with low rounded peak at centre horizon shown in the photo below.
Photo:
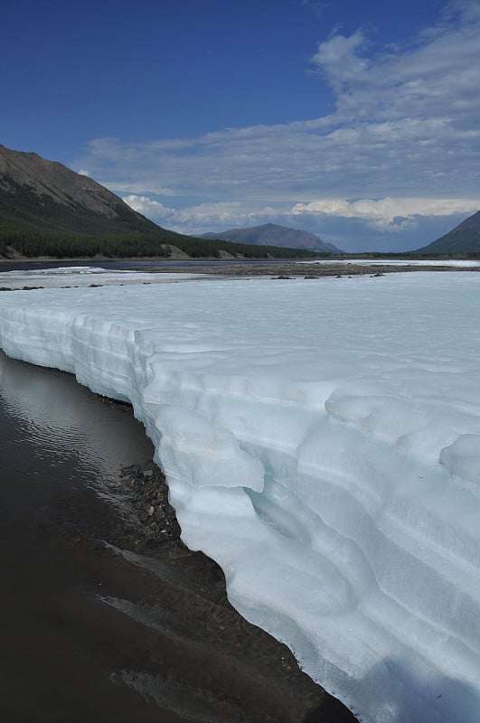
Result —
<path fill-rule="evenodd" d="M 315 233 L 288 229 L 275 223 L 252 226 L 249 229 L 229 229 L 222 233 L 203 233 L 201 239 L 227 239 L 237 243 L 279 246 L 288 249 L 308 249 L 317 253 L 342 253 L 331 243 L 325 243 Z"/>

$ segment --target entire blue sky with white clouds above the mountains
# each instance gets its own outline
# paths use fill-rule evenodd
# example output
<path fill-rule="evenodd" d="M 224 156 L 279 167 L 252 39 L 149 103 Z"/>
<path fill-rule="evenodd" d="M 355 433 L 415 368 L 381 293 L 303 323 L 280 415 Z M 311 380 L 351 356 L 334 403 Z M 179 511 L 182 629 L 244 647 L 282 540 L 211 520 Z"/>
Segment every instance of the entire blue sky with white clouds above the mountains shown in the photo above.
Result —
<path fill-rule="evenodd" d="M 0 143 L 185 233 L 415 249 L 480 209 L 480 1 L 0 0 Z"/>

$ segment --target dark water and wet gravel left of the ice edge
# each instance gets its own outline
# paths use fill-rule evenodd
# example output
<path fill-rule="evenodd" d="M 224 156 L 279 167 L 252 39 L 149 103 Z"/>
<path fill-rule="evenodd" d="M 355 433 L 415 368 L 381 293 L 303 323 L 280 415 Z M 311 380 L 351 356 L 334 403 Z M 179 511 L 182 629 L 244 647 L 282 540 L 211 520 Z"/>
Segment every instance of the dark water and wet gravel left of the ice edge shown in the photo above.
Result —
<path fill-rule="evenodd" d="M 354 721 L 184 547 L 130 408 L 0 362 L 0 719 Z"/>

